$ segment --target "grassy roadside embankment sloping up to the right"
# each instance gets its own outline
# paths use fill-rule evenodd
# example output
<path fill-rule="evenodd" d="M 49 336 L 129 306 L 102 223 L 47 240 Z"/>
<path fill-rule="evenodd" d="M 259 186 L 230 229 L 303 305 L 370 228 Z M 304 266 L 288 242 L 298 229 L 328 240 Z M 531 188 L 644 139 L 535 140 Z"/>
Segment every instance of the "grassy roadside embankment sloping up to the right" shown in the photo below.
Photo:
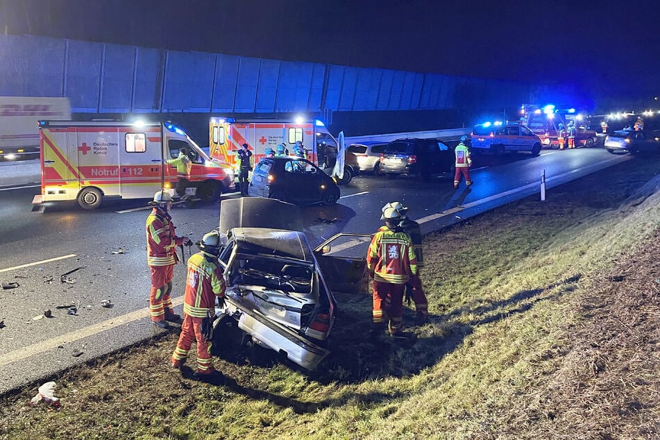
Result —
<path fill-rule="evenodd" d="M 27 407 L 36 387 L 3 398 L 0 437 L 658 438 L 659 164 L 427 237 L 412 346 L 366 339 L 369 296 L 340 296 L 312 375 L 240 353 L 214 359 L 225 386 L 194 382 L 169 368 L 173 334 L 56 378 L 58 412 Z"/>

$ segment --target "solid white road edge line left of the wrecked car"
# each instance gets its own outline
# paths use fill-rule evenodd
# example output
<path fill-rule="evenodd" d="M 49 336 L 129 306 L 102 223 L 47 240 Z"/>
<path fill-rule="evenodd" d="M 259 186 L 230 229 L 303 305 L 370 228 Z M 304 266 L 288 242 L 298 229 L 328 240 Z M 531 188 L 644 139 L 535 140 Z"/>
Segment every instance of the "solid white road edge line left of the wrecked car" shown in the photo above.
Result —
<path fill-rule="evenodd" d="M 177 298 L 172 298 L 172 305 L 177 306 L 181 304 L 183 304 L 183 295 L 178 296 Z M 18 350 L 3 353 L 0 355 L 0 368 L 8 364 L 21 361 L 22 359 L 26 359 L 33 355 L 44 353 L 47 350 L 53 350 L 58 348 L 58 346 L 71 344 L 78 339 L 94 336 L 96 333 L 110 330 L 112 328 L 119 327 L 120 325 L 128 325 L 128 323 L 136 321 L 137 319 L 142 319 L 144 317 L 149 317 L 149 307 L 143 307 L 142 309 L 135 310 L 135 312 L 130 312 L 121 316 L 115 316 L 114 318 L 88 325 L 87 327 L 74 330 L 73 332 L 65 333 L 64 335 L 52 337 L 51 339 L 46 339 L 45 341 L 19 348 Z"/>

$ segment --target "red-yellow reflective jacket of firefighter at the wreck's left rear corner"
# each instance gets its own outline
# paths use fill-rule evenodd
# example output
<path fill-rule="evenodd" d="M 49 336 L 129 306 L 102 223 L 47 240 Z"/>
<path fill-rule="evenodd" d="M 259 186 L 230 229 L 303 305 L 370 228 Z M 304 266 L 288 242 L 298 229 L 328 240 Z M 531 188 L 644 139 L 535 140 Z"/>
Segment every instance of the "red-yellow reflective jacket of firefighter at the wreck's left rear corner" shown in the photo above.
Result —
<path fill-rule="evenodd" d="M 217 258 L 206 255 L 198 252 L 188 259 L 183 312 L 194 318 L 205 318 L 207 311 L 215 314 L 215 298 L 225 296 L 225 280 Z"/>

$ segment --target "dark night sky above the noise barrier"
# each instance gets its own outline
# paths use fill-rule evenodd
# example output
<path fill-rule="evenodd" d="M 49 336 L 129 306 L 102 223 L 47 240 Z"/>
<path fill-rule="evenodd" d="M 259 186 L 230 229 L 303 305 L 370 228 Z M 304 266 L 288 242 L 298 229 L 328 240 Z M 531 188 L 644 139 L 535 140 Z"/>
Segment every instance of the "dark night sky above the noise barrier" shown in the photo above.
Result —
<path fill-rule="evenodd" d="M 0 24 L 13 34 L 577 84 L 597 103 L 657 108 L 659 10 L 657 1 L 0 0 Z"/>

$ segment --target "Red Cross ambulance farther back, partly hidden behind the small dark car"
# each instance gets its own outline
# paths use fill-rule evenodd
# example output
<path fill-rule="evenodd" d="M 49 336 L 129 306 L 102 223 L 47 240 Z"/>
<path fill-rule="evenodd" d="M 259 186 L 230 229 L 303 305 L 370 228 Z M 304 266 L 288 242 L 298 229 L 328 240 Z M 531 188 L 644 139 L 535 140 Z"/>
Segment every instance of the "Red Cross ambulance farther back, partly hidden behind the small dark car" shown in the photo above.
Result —
<path fill-rule="evenodd" d="M 320 168 L 335 164 L 337 139 L 319 119 L 236 121 L 233 118 L 211 118 L 209 122 L 210 156 L 233 166 L 236 166 L 236 152 L 243 144 L 248 144 L 256 164 L 266 155 L 266 148 L 277 150 L 282 143 L 293 155 L 296 141 L 303 142 L 307 159 Z"/>

